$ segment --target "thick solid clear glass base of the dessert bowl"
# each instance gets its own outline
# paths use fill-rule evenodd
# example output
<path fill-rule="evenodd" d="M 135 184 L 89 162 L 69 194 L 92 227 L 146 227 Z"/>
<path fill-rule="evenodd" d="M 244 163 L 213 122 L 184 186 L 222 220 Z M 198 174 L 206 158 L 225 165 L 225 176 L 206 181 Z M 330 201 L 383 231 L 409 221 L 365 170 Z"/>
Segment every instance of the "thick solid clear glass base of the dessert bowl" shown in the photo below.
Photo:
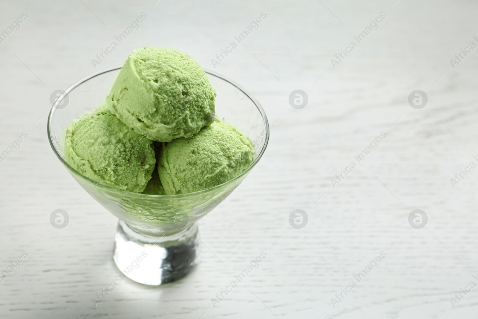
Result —
<path fill-rule="evenodd" d="M 174 234 L 151 236 L 120 220 L 115 235 L 115 264 L 130 279 L 158 286 L 189 274 L 199 261 L 197 223 Z"/>

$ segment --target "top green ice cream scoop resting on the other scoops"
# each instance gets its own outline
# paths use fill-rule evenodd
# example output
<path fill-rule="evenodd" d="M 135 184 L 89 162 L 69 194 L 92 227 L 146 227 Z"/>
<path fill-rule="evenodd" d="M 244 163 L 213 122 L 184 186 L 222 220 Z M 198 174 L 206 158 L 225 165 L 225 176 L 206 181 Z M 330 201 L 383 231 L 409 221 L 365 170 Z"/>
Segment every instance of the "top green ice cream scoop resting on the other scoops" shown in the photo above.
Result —
<path fill-rule="evenodd" d="M 211 124 L 216 91 L 185 53 L 144 47 L 128 56 L 109 96 L 109 110 L 150 140 L 190 137 Z"/>

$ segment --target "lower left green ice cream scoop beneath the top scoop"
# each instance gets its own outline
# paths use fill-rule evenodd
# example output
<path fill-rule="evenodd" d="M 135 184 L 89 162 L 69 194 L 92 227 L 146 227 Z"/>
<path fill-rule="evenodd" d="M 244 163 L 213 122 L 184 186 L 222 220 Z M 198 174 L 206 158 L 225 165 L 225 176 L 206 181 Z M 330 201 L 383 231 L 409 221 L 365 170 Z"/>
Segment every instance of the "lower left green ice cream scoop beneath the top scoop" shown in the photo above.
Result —
<path fill-rule="evenodd" d="M 124 125 L 106 105 L 67 128 L 65 159 L 84 176 L 130 192 L 144 190 L 156 162 L 152 141 Z"/>

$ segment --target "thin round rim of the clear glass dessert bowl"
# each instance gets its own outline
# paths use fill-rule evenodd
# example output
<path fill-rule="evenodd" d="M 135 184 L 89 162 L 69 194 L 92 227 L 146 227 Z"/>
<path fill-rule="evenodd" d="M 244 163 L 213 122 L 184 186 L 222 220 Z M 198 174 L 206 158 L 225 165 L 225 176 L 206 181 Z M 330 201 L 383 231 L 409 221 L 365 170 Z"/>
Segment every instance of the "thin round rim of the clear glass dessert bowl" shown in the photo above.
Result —
<path fill-rule="evenodd" d="M 224 182 L 224 183 L 221 183 L 221 184 L 218 184 L 216 186 L 213 186 L 213 187 L 209 187 L 209 188 L 206 188 L 206 189 L 202 189 L 202 190 L 198 190 L 196 192 L 191 192 L 191 193 L 184 193 L 184 194 L 174 194 L 174 195 L 150 195 L 150 194 L 142 194 L 142 193 L 135 193 L 135 192 L 130 192 L 130 191 L 127 191 L 127 190 L 122 190 L 122 189 L 117 189 L 117 188 L 114 188 L 114 187 L 109 187 L 109 186 L 106 186 L 106 185 L 103 185 L 95 180 L 92 180 L 91 178 L 88 178 L 87 176 L 84 176 L 83 174 L 79 173 L 78 171 L 76 171 L 76 169 L 74 169 L 73 167 L 71 167 L 66 161 L 65 159 L 63 158 L 63 156 L 61 156 L 59 153 L 58 153 L 58 150 L 56 149 L 54 143 L 53 143 L 53 140 L 52 140 L 52 135 L 51 135 L 51 132 L 50 132 L 50 125 L 51 125 L 51 121 L 52 121 L 52 115 L 54 114 L 55 110 L 59 110 L 57 108 L 55 108 L 56 105 L 58 105 L 59 103 L 61 103 L 62 99 L 65 98 L 66 95 L 68 95 L 69 92 L 71 92 L 74 88 L 76 88 L 78 85 L 82 84 L 83 82 L 86 82 L 87 80 L 93 78 L 93 77 L 96 77 L 98 75 L 101 75 L 103 73 L 107 73 L 107 72 L 110 72 L 110 71 L 115 71 L 115 70 L 119 70 L 122 68 L 122 65 L 121 66 L 111 66 L 111 67 L 108 67 L 108 68 L 105 68 L 105 69 L 102 69 L 102 70 L 99 70 L 95 73 L 92 73 L 86 77 L 83 77 L 81 78 L 79 81 L 77 81 L 75 84 L 71 85 L 70 87 L 68 87 L 64 93 L 62 93 L 60 95 L 60 97 L 55 101 L 54 105 L 52 106 L 49 114 L 48 114 L 48 121 L 47 121 L 47 127 L 46 127 L 46 131 L 48 133 L 48 141 L 50 142 L 50 146 L 52 147 L 53 149 L 53 152 L 54 154 L 56 155 L 56 157 L 58 157 L 58 159 L 60 160 L 60 162 L 65 165 L 68 170 L 70 172 L 74 172 L 75 175 L 87 180 L 88 182 L 90 182 L 91 184 L 96 184 L 95 187 L 99 187 L 99 188 L 105 188 L 107 189 L 109 192 L 117 192 L 117 193 L 120 193 L 120 194 L 128 194 L 128 196 L 133 196 L 133 197 L 138 197 L 138 198 L 182 198 L 182 197 L 189 197 L 191 195 L 198 195 L 198 194 L 202 194 L 202 193 L 207 193 L 213 189 L 216 189 L 218 187 L 224 187 L 228 184 L 231 184 L 233 183 L 235 180 L 241 178 L 242 176 L 246 175 L 246 174 L 249 174 L 250 170 L 259 162 L 259 160 L 261 159 L 262 157 L 262 154 L 264 154 L 265 150 L 266 150 L 266 147 L 267 147 L 267 144 L 269 142 L 269 121 L 267 120 L 267 116 L 266 116 L 266 113 L 265 111 L 262 109 L 262 106 L 261 106 L 261 103 L 259 103 L 259 101 L 254 98 L 254 96 L 252 94 L 250 94 L 244 87 L 242 87 L 241 85 L 239 85 L 238 83 L 236 83 L 235 81 L 231 80 L 230 78 L 228 77 L 225 77 L 223 75 L 220 75 L 218 74 L 217 72 L 215 71 L 212 71 L 212 70 L 208 70 L 208 69 L 204 69 L 204 71 L 210 75 L 213 75 L 215 77 L 219 77 L 227 82 L 229 82 L 231 85 L 233 85 L 234 87 L 238 88 L 242 93 L 244 93 L 255 105 L 255 107 L 259 110 L 259 112 L 261 113 L 261 116 L 262 116 L 262 119 L 264 121 L 264 124 L 265 124 L 265 129 L 266 129 L 266 135 L 265 135 L 265 140 L 264 140 L 264 145 L 262 146 L 262 149 L 261 151 L 259 152 L 259 154 L 257 155 L 257 157 L 254 159 L 254 161 L 249 165 L 248 168 L 246 168 L 244 171 L 242 171 L 239 175 L 237 176 L 234 176 L 233 178 L 229 179 L 228 181 Z"/>

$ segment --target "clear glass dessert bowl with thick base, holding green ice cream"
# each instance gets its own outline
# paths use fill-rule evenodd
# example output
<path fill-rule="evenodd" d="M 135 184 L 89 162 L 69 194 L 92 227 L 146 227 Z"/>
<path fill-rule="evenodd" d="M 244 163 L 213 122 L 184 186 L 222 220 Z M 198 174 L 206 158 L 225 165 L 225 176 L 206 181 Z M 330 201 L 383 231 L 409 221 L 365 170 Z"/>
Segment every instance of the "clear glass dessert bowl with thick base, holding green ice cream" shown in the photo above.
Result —
<path fill-rule="evenodd" d="M 228 197 L 259 162 L 269 140 L 269 124 L 250 93 L 226 77 L 206 71 L 217 92 L 216 114 L 254 143 L 252 164 L 223 184 L 186 194 L 146 195 L 101 185 L 65 161 L 65 133 L 73 120 L 104 103 L 120 69 L 98 71 L 67 88 L 48 116 L 48 139 L 81 187 L 119 218 L 113 259 L 120 271 L 141 284 L 162 285 L 183 278 L 198 263 L 197 220 Z"/>

